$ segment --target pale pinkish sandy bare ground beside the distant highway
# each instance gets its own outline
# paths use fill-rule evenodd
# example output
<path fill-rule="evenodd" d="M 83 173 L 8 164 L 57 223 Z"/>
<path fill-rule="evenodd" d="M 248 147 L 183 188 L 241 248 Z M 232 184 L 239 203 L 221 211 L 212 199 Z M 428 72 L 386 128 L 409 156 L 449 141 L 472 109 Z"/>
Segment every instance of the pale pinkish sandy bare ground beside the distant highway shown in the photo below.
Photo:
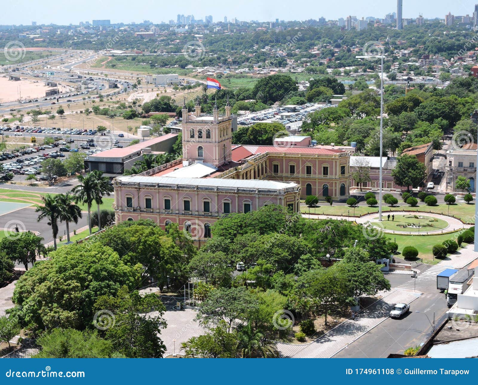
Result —
<path fill-rule="evenodd" d="M 52 87 L 47 87 L 44 85 L 42 80 L 20 80 L 18 82 L 8 80 L 8 77 L 0 77 L 0 102 L 10 102 L 18 100 L 20 94 L 22 94 L 22 99 L 32 99 L 45 97 L 45 91 L 51 89 Z M 60 92 L 65 92 L 69 90 L 69 87 L 63 85 L 58 85 Z"/>

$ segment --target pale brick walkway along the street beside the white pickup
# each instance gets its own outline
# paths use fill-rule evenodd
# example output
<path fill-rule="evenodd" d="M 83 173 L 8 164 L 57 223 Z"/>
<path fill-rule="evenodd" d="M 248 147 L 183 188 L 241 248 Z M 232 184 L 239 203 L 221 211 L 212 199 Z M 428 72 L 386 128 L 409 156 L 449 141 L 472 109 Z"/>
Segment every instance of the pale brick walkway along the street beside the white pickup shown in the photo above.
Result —
<path fill-rule="evenodd" d="M 322 337 L 304 345 L 278 342 L 277 349 L 282 357 L 290 358 L 330 358 L 359 339 L 381 322 L 389 318 L 391 307 L 399 302 L 410 303 L 421 293 L 393 290 L 380 301 L 362 310 L 355 321 L 347 320 L 337 325 Z"/>

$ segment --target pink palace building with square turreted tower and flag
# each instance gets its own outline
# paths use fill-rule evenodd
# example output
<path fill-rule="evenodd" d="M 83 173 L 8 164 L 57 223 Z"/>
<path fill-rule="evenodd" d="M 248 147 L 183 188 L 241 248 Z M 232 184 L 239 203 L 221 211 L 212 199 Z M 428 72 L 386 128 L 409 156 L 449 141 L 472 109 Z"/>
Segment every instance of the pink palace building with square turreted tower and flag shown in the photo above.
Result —
<path fill-rule="evenodd" d="M 196 241 L 211 236 L 211 225 L 230 213 L 267 204 L 300 211 L 300 199 L 317 195 L 334 201 L 349 195 L 350 153 L 323 147 L 232 144 L 231 107 L 219 116 L 184 106 L 183 158 L 138 175 L 114 179 L 116 222 L 151 219 L 173 222 Z"/>

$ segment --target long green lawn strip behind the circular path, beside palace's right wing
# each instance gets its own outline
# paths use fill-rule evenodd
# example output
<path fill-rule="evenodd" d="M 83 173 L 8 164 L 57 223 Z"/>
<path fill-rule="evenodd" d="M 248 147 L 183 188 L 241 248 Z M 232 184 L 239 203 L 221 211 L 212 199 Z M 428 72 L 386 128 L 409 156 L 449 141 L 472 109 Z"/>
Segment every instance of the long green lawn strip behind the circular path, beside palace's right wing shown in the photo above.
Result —
<path fill-rule="evenodd" d="M 400 204 L 400 203 L 399 203 Z M 301 211 L 305 214 L 325 214 L 325 215 L 363 215 L 363 214 L 372 214 L 377 213 L 379 211 L 378 206 L 369 207 L 365 203 L 360 203 L 359 206 L 353 207 L 345 206 L 345 205 L 332 205 L 330 206 L 327 203 L 319 202 L 316 207 L 307 207 L 305 205 L 301 206 Z M 447 204 L 436 204 L 435 206 L 427 206 L 426 204 L 419 204 L 418 206 L 412 207 L 408 204 L 404 204 L 403 206 L 394 206 L 390 207 L 388 205 L 382 206 L 382 212 L 386 213 L 388 211 L 402 211 L 402 210 L 413 210 L 413 211 L 421 211 L 421 212 L 431 212 L 436 214 L 448 214 L 454 215 L 460 218 L 464 222 L 474 223 L 474 215 L 475 215 L 475 204 L 474 203 L 454 203 L 450 204 L 449 207 Z"/>

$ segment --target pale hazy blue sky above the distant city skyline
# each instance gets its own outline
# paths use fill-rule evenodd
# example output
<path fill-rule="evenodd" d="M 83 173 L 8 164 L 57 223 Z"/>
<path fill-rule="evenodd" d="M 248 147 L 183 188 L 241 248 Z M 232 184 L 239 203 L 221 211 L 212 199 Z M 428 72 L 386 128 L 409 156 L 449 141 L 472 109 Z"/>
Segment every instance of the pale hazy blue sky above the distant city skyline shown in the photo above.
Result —
<path fill-rule="evenodd" d="M 476 1 L 478 3 L 478 0 Z M 150 20 L 153 23 L 176 20 L 176 15 L 193 14 L 196 19 L 212 15 L 213 21 L 236 17 L 238 20 L 274 21 L 318 19 L 324 16 L 337 20 L 339 17 L 375 16 L 383 18 L 396 11 L 396 0 L 3 0 L 0 24 L 78 24 L 79 21 L 109 19 L 130 23 Z M 469 0 L 403 0 L 403 17 L 415 18 L 422 13 L 425 18 L 445 18 L 451 11 L 454 15 L 471 15 L 475 1 Z"/>

